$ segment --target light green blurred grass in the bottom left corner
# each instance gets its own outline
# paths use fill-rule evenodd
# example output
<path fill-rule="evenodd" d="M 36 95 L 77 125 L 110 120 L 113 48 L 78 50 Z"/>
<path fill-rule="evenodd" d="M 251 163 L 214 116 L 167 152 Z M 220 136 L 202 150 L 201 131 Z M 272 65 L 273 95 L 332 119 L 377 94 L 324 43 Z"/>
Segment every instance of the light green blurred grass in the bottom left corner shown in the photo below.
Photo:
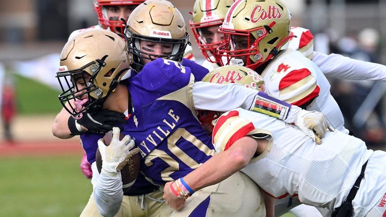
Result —
<path fill-rule="evenodd" d="M 80 159 L 79 154 L 0 158 L 0 216 L 79 216 L 92 191 Z"/>

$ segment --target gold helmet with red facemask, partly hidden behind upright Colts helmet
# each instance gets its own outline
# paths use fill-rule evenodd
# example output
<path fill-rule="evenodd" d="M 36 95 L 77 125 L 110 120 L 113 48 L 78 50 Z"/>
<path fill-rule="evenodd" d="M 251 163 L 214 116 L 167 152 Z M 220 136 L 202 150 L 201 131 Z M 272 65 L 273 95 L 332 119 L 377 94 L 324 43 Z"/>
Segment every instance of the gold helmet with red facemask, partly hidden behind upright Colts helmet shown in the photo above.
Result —
<path fill-rule="evenodd" d="M 210 27 L 217 27 L 218 29 L 232 4 L 233 0 L 196 0 L 195 2 L 192 20 L 189 21 L 190 29 L 201 53 L 211 63 L 216 62 L 211 56 L 216 55 L 216 48 L 222 42 L 212 42 L 211 39 L 205 37 L 203 31 L 207 31 Z"/>

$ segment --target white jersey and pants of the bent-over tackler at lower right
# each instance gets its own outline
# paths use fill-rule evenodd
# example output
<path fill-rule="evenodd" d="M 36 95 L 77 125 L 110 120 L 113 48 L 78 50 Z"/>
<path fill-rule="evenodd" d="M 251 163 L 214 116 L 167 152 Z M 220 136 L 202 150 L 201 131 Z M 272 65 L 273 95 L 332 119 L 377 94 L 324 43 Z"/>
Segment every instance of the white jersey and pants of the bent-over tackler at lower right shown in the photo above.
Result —
<path fill-rule="evenodd" d="M 236 109 L 224 113 L 213 131 L 216 151 L 246 136 L 266 138 L 266 150 L 242 169 L 275 198 L 298 196 L 302 203 L 333 210 L 347 197 L 361 167 L 365 176 L 353 200 L 354 215 L 364 216 L 386 192 L 386 152 L 367 150 L 364 142 L 340 131 L 316 143 L 294 125 L 264 114 Z"/>

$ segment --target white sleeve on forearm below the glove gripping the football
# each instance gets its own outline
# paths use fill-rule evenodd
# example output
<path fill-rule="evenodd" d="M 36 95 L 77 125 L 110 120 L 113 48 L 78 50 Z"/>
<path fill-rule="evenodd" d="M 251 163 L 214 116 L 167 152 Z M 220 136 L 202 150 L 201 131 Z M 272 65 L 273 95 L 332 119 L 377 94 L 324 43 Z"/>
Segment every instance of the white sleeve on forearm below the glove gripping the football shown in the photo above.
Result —
<path fill-rule="evenodd" d="M 101 215 L 114 216 L 119 211 L 123 199 L 120 173 L 117 176 L 109 176 L 101 172 L 94 189 L 94 199 Z"/>

